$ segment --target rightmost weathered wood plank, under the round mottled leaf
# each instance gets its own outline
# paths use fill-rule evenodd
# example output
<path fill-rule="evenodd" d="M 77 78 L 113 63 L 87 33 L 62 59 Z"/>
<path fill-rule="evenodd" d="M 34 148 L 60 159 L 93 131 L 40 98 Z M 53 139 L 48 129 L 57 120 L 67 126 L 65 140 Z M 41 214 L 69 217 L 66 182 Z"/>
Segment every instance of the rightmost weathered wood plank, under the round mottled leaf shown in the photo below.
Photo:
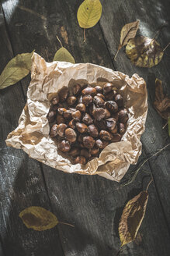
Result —
<path fill-rule="evenodd" d="M 168 20 L 168 9 L 170 4 L 167 1 L 140 1 L 136 2 L 134 0 L 129 2 L 124 1 L 114 1 L 106 2 L 102 1 L 103 12 L 102 19 L 100 20 L 100 26 L 102 28 L 102 33 L 106 38 L 106 42 L 111 55 L 116 52 L 116 49 L 120 41 L 120 30 L 125 23 L 132 22 L 134 20 L 141 20 L 140 34 L 153 37 L 155 30 L 165 22 L 169 25 Z M 161 31 L 158 41 L 164 48 L 168 44 L 170 36 L 169 27 L 164 28 Z M 169 52 L 169 50 L 168 50 Z M 120 50 L 117 56 L 114 66 L 116 69 L 132 75 L 133 73 L 138 73 L 140 76 L 144 77 L 147 82 L 148 88 L 148 115 L 146 130 L 142 136 L 142 142 L 144 150 L 148 155 L 151 152 L 158 151 L 158 149 L 163 148 L 165 143 L 169 143 L 170 140 L 165 138 L 168 137 L 168 130 L 162 130 L 162 119 L 158 116 L 158 113 L 154 110 L 152 101 L 154 100 L 154 80 L 156 77 L 162 80 L 162 84 L 165 91 L 170 94 L 169 87 L 169 69 L 170 65 L 168 55 L 165 54 L 162 61 L 158 66 L 151 69 L 137 68 L 130 63 L 127 59 L 125 52 Z M 170 193 L 170 176 L 168 172 L 170 171 L 169 158 L 170 148 L 162 152 L 157 158 L 153 158 L 150 161 L 151 169 L 153 170 L 154 181 L 158 190 L 158 197 L 161 200 L 163 211 L 168 222 L 168 227 L 170 228 L 170 200 L 168 199 L 168 194 Z"/>

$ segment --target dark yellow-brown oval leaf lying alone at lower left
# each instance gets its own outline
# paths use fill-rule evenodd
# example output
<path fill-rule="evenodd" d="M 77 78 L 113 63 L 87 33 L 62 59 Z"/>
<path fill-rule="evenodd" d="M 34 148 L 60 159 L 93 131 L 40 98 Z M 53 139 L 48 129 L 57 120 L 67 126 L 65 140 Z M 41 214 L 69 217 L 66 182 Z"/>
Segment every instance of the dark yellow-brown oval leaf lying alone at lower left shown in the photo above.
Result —
<path fill-rule="evenodd" d="M 37 231 L 52 229 L 58 223 L 57 217 L 53 213 L 38 206 L 24 209 L 19 213 L 19 217 L 28 229 Z"/>

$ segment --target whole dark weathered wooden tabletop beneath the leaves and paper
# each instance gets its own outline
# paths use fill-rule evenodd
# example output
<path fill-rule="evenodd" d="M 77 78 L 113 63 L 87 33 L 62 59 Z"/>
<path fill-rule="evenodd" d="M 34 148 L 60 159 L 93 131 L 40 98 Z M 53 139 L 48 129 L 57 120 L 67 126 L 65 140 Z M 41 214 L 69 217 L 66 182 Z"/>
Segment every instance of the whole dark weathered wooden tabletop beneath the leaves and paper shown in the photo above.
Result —
<path fill-rule="evenodd" d="M 124 50 L 113 55 L 125 23 L 141 20 L 138 34 L 153 37 L 169 19 L 168 0 L 102 0 L 102 18 L 86 31 L 78 27 L 76 13 L 79 0 L 1 0 L 0 6 L 0 71 L 18 53 L 33 49 L 46 61 L 52 61 L 60 47 L 56 35 L 76 62 L 92 62 L 131 76 L 138 73 L 147 82 L 148 105 L 146 130 L 142 136 L 140 163 L 169 143 L 164 121 L 153 108 L 154 80 L 162 80 L 170 93 L 170 48 L 158 66 L 137 68 Z M 30 12 L 29 10 L 32 10 Z M 170 23 L 168 23 L 170 25 Z M 164 48 L 170 41 L 169 27 L 161 30 L 158 41 Z M 2 256 L 113 256 L 120 249 L 118 223 L 124 205 L 145 189 L 151 179 L 147 211 L 137 239 L 123 248 L 120 255 L 165 256 L 170 254 L 170 148 L 151 158 L 134 183 L 120 186 L 100 176 L 66 174 L 29 158 L 22 150 L 8 148 L 5 138 L 18 124 L 26 102 L 29 77 L 0 91 L 0 179 L 1 179 L 1 246 Z M 134 166 L 130 167 L 126 177 Z M 147 171 L 147 172 L 144 172 Z M 125 178 L 126 178 L 125 177 Z M 36 232 L 26 229 L 19 212 L 38 205 L 54 212 L 63 222 L 54 229 Z"/>

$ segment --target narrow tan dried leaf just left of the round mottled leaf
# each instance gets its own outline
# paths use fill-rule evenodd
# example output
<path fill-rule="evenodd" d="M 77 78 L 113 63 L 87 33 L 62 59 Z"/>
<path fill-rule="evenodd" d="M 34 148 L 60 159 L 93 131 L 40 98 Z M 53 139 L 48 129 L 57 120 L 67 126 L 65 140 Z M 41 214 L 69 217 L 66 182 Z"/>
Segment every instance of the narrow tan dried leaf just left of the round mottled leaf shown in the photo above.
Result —
<path fill-rule="evenodd" d="M 128 43 L 128 41 L 131 38 L 134 38 L 136 36 L 137 30 L 139 28 L 139 23 L 140 23 L 140 20 L 137 20 L 132 23 L 127 23 L 126 25 L 123 26 L 120 32 L 120 45 L 117 49 L 116 55 L 118 54 L 120 49 Z M 116 55 L 114 59 L 116 59 Z"/>

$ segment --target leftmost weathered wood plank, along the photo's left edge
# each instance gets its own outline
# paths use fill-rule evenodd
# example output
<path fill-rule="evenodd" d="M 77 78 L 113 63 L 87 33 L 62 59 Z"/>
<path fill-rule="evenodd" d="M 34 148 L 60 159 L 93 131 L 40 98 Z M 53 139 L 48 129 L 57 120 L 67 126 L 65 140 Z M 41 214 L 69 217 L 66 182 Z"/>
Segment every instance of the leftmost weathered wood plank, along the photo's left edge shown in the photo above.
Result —
<path fill-rule="evenodd" d="M 0 8 L 1 67 L 12 59 L 12 48 Z M 43 184 L 40 165 L 28 158 L 23 151 L 8 148 L 5 138 L 16 128 L 19 115 L 25 105 L 19 84 L 0 92 L 0 180 L 1 180 L 1 236 L 5 255 L 54 255 L 62 256 L 57 227 L 46 233 L 26 229 L 19 212 L 31 205 L 50 209 L 47 191 Z"/>

